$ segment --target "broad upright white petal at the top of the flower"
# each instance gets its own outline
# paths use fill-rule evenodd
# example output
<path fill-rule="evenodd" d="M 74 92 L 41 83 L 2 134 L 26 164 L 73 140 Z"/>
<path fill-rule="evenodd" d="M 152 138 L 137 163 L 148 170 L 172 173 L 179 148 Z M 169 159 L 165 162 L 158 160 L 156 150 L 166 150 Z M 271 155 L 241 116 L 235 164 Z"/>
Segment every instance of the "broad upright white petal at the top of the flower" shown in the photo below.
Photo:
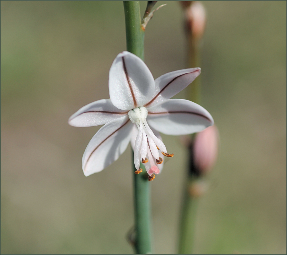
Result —
<path fill-rule="evenodd" d="M 144 61 L 123 51 L 117 55 L 110 68 L 108 88 L 110 99 L 117 108 L 131 110 L 151 99 L 154 78 Z"/>

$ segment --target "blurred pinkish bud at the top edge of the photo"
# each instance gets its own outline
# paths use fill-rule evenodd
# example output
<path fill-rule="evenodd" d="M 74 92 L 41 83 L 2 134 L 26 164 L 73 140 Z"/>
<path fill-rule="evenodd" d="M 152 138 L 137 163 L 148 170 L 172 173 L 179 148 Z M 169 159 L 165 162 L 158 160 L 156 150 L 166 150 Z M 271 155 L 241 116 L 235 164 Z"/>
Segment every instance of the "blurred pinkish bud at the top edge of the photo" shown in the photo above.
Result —
<path fill-rule="evenodd" d="M 203 36 L 206 23 L 205 9 L 198 1 L 193 1 L 186 8 L 185 16 L 187 19 L 187 29 L 192 33 L 194 39 L 200 39 Z"/>

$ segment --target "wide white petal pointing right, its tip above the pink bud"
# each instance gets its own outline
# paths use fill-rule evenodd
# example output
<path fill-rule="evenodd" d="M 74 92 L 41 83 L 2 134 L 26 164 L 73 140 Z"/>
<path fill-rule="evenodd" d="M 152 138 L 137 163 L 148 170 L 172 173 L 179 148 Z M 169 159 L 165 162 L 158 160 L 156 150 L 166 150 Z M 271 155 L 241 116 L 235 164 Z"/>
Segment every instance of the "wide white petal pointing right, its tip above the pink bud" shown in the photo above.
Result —
<path fill-rule="evenodd" d="M 166 135 L 187 135 L 212 126 L 210 113 L 185 99 L 168 99 L 148 109 L 148 124 Z"/>

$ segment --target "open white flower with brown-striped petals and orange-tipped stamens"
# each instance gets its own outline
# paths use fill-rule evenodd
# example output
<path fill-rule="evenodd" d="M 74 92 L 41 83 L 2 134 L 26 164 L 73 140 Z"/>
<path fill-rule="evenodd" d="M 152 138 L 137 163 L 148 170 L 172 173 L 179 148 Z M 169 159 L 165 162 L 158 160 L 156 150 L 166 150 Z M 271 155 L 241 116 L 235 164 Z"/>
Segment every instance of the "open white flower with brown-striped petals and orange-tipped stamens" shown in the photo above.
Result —
<path fill-rule="evenodd" d="M 136 169 L 143 162 L 149 175 L 158 174 L 163 165 L 160 153 L 173 155 L 167 153 L 158 131 L 186 135 L 214 123 L 210 113 L 198 104 L 170 99 L 199 74 L 200 68 L 189 68 L 154 80 L 139 57 L 127 51 L 117 55 L 109 72 L 110 99 L 90 103 L 69 118 L 69 124 L 77 127 L 104 124 L 84 152 L 84 175 L 100 172 L 112 164 L 129 141 Z"/>

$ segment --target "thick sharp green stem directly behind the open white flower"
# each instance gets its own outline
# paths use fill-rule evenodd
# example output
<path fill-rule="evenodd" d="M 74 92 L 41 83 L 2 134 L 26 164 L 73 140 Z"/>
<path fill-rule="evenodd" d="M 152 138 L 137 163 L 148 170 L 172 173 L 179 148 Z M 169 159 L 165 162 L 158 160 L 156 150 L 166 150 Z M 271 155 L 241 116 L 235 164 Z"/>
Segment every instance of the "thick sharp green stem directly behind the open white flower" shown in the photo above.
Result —
<path fill-rule="evenodd" d="M 125 11 L 127 51 L 144 60 L 144 30 L 141 28 L 139 1 L 123 1 Z M 133 164 L 133 171 L 137 170 Z M 151 254 L 150 185 L 143 164 L 143 172 L 134 175 L 135 250 L 137 254 Z"/>

